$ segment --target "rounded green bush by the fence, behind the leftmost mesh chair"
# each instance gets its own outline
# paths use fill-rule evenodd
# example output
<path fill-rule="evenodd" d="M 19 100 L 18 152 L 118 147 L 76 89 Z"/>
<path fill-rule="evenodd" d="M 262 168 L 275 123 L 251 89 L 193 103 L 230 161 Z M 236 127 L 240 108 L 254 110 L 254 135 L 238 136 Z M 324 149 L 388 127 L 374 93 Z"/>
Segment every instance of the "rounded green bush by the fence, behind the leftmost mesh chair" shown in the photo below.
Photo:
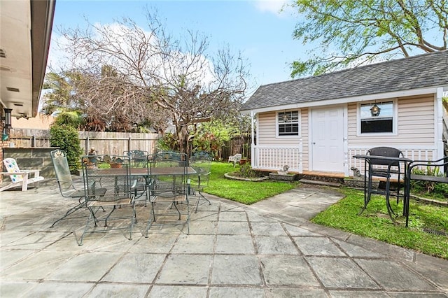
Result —
<path fill-rule="evenodd" d="M 80 157 L 83 148 L 80 146 L 78 131 L 67 125 L 50 127 L 50 146 L 64 150 L 69 162 L 70 171 L 80 169 Z"/>

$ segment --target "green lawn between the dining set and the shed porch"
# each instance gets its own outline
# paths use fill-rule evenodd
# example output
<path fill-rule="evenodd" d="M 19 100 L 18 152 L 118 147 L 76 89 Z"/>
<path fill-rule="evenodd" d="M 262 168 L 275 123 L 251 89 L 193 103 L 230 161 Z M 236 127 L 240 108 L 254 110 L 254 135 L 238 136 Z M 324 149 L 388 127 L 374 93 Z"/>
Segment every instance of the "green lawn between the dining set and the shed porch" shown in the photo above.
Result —
<path fill-rule="evenodd" d="M 273 197 L 276 194 L 286 192 L 286 190 L 291 190 L 297 187 L 298 184 L 272 180 L 263 180 L 260 182 L 230 180 L 224 177 L 224 173 L 235 171 L 239 171 L 239 166 L 234 168 L 231 163 L 213 162 L 211 164 L 209 186 L 204 192 L 250 205 Z"/>

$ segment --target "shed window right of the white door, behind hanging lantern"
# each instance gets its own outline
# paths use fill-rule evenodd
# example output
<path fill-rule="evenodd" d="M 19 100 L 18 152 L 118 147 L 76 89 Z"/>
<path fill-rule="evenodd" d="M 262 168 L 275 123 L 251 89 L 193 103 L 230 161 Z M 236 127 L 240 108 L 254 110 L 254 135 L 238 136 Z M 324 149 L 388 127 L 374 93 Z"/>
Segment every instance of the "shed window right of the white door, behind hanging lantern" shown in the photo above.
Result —
<path fill-rule="evenodd" d="M 378 115 L 372 115 L 370 111 L 374 104 L 380 108 Z M 361 104 L 360 115 L 361 134 L 393 132 L 393 101 Z"/>

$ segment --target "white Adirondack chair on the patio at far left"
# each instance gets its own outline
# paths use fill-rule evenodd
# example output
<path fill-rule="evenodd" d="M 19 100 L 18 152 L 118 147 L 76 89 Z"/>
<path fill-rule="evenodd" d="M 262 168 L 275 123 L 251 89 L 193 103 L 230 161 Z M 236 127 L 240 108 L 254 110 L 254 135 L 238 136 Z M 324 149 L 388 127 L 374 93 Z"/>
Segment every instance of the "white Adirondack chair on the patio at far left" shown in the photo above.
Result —
<path fill-rule="evenodd" d="M 3 159 L 3 164 L 5 164 L 6 172 L 1 172 L 3 176 L 9 176 L 11 183 L 0 188 L 0 192 L 3 190 L 8 190 L 12 187 L 22 186 L 22 192 L 28 190 L 28 185 L 31 183 L 36 183 L 43 180 L 42 176 L 39 176 L 40 170 L 20 170 L 17 162 L 13 158 Z M 31 177 L 31 173 L 33 177 Z"/>

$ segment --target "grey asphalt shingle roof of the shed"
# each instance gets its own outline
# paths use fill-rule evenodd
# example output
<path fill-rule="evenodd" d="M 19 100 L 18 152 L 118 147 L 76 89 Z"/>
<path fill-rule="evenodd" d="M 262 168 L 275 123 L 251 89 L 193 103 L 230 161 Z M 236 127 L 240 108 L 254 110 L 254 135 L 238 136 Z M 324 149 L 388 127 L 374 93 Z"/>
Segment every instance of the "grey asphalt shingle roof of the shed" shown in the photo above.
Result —
<path fill-rule="evenodd" d="M 262 85 L 241 110 L 448 85 L 448 50 Z"/>

